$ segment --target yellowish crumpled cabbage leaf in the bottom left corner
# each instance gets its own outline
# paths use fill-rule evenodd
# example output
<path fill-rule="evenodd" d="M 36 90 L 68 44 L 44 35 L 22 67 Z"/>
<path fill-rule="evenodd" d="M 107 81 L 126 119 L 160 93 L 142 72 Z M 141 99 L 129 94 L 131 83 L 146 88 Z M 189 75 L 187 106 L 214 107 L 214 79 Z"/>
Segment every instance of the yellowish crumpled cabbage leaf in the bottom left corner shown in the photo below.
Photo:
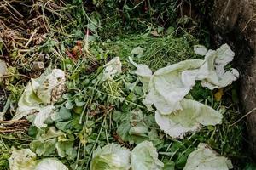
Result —
<path fill-rule="evenodd" d="M 34 170 L 36 154 L 30 149 L 13 150 L 9 158 L 10 170 Z"/>

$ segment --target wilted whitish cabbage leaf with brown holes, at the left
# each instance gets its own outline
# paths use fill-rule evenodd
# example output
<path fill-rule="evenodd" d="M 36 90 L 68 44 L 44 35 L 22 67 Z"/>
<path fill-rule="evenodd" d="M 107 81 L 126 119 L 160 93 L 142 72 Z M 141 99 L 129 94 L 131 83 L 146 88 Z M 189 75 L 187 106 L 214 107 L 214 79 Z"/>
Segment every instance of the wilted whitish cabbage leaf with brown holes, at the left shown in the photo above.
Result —
<path fill-rule="evenodd" d="M 65 81 L 65 72 L 60 69 L 51 70 L 48 68 L 40 77 L 32 78 L 20 97 L 13 120 L 19 120 L 22 117 L 39 112 L 35 124 L 40 125 L 38 127 L 45 127 L 42 120 L 45 120 L 50 115 L 49 113 L 53 113 L 54 110 L 52 105 L 55 102 L 55 96 L 53 94 L 60 94 L 63 91 L 61 85 Z M 39 123 L 39 120 L 41 123 Z"/>

